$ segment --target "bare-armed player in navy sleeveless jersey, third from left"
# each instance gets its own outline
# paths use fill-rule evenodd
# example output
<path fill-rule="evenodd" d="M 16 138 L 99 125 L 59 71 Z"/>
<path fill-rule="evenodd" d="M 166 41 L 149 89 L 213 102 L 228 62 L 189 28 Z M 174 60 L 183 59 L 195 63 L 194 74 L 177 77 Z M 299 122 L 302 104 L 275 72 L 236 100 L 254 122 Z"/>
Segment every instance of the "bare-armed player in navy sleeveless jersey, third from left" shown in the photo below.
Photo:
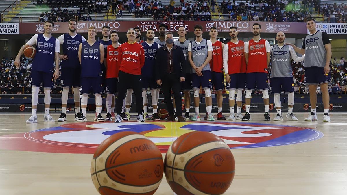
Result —
<path fill-rule="evenodd" d="M 101 116 L 102 110 L 102 97 L 104 92 L 102 82 L 102 68 L 101 65 L 104 61 L 104 46 L 95 40 L 96 29 L 91 26 L 88 28 L 88 40 L 80 43 L 78 47 L 78 58 L 81 63 L 81 88 L 82 93 L 81 108 L 82 116 L 77 122 L 85 122 L 86 109 L 88 104 L 88 95 L 93 93 L 95 95 L 96 107 L 96 121 L 104 121 Z"/>

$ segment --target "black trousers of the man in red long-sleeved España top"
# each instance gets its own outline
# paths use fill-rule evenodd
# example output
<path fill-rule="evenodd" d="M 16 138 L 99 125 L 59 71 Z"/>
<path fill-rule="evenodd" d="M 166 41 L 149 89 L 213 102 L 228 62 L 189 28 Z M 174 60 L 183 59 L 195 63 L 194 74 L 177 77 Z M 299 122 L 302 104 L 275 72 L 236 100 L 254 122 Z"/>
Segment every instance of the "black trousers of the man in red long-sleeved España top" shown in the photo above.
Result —
<path fill-rule="evenodd" d="M 117 115 L 120 115 L 120 112 L 122 111 L 124 96 L 128 88 L 132 88 L 134 91 L 137 115 L 141 115 L 143 106 L 141 75 L 128 74 L 123 71 L 119 71 L 118 73 L 118 97 L 116 100 L 116 113 Z"/>

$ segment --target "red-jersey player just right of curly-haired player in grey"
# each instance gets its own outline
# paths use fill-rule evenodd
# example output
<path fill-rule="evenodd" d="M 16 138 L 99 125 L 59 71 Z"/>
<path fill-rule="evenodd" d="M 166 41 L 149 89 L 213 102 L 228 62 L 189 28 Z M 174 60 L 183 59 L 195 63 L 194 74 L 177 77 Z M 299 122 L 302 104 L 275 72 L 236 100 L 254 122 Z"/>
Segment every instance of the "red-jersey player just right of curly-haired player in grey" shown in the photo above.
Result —
<path fill-rule="evenodd" d="M 214 86 L 214 90 L 217 92 L 217 105 L 218 105 L 217 120 L 225 120 L 225 117 L 223 116 L 223 113 L 222 113 L 222 103 L 223 103 L 222 90 L 225 89 L 224 76 L 223 76 L 223 56 L 222 56 L 224 43 L 217 41 L 217 35 L 218 35 L 217 28 L 215 26 L 212 26 L 210 28 L 210 41 L 212 42 L 212 49 L 213 49 L 212 59 L 210 61 L 210 68 L 211 68 L 211 74 L 212 74 L 212 86 Z M 206 119 L 204 118 L 204 120 Z"/>

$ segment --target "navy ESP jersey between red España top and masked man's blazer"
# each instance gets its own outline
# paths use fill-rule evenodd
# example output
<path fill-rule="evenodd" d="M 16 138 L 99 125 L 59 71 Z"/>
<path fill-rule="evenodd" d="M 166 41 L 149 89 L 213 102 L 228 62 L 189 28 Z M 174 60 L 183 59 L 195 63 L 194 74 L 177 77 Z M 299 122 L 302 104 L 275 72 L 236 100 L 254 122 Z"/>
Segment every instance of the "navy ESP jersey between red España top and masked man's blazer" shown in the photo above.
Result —
<path fill-rule="evenodd" d="M 152 46 L 149 46 L 147 42 L 141 43 L 143 46 L 143 50 L 145 52 L 145 64 L 141 68 L 142 77 L 152 78 L 153 77 L 153 69 L 155 63 L 155 55 L 158 50 L 158 43 L 153 43 Z"/>

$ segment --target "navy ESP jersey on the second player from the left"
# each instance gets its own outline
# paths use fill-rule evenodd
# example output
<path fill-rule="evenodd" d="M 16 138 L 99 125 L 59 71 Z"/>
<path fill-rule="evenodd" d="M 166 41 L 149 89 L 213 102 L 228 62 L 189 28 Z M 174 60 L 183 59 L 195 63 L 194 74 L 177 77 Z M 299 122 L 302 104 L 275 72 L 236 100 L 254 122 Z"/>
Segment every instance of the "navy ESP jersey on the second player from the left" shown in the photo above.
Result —
<path fill-rule="evenodd" d="M 82 43 L 82 35 L 77 34 L 72 38 L 69 33 L 64 34 L 63 52 L 67 55 L 67 60 L 61 61 L 63 68 L 79 68 L 78 46 Z"/>

